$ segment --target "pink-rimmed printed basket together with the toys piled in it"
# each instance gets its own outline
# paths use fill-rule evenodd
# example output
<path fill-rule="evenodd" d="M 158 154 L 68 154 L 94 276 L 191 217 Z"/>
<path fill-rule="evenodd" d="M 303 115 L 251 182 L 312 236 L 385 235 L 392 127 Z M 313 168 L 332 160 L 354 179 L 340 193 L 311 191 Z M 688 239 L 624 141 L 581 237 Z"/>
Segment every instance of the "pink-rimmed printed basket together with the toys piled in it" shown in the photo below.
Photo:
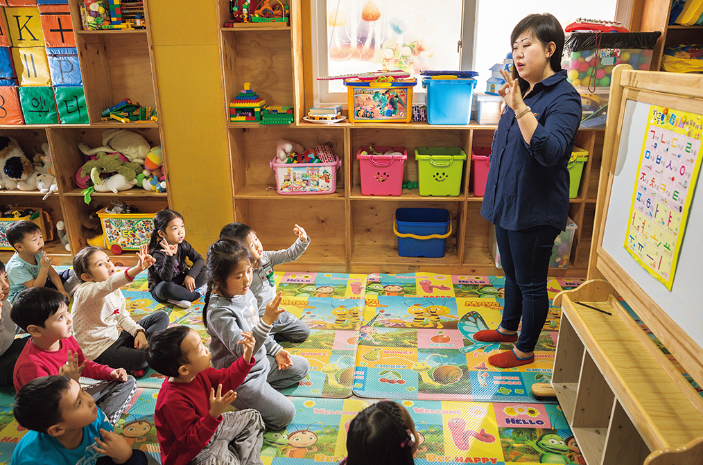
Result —
<path fill-rule="evenodd" d="M 337 190 L 337 170 L 342 161 L 329 145 L 316 145 L 301 153 L 291 152 L 285 161 L 270 162 L 276 173 L 276 192 L 281 195 L 332 194 Z"/>

